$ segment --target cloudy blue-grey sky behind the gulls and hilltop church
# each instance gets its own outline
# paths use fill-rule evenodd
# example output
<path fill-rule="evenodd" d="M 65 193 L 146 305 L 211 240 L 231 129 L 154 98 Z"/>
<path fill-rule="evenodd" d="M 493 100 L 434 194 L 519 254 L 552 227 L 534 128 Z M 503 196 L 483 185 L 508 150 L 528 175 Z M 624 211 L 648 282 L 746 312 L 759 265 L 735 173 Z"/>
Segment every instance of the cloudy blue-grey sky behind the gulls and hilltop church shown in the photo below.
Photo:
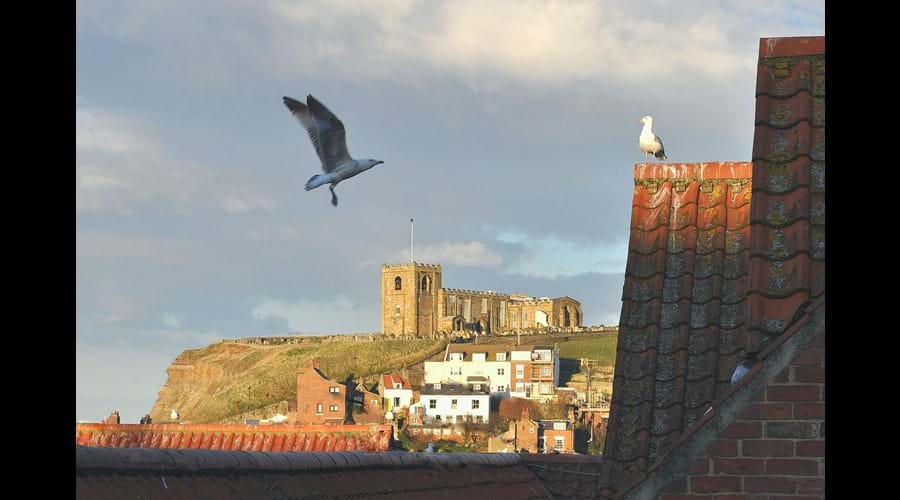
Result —
<path fill-rule="evenodd" d="M 382 263 L 569 295 L 615 324 L 636 123 L 670 161 L 745 161 L 758 40 L 819 1 L 268 0 L 76 4 L 76 417 L 137 422 L 184 349 L 376 331 Z M 319 162 L 311 93 L 357 158 Z"/>

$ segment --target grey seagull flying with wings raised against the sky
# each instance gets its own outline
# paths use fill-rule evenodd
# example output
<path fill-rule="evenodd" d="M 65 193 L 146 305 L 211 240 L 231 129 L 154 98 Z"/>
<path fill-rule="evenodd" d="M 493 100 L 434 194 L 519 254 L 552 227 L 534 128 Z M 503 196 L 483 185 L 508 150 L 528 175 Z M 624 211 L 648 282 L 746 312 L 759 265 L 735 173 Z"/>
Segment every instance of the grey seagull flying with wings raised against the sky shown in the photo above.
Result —
<path fill-rule="evenodd" d="M 291 110 L 291 114 L 300 120 L 300 124 L 306 129 L 309 140 L 312 141 L 313 147 L 316 148 L 316 154 L 322 161 L 322 171 L 325 172 L 321 175 L 314 175 L 306 181 L 307 191 L 323 184 L 331 184 L 329 187 L 331 204 L 337 206 L 337 195 L 334 194 L 334 188 L 338 183 L 384 163 L 380 160 L 354 160 L 351 158 L 350 152 L 347 151 L 344 124 L 315 97 L 307 95 L 306 104 L 303 104 L 285 96 L 284 105 Z"/>

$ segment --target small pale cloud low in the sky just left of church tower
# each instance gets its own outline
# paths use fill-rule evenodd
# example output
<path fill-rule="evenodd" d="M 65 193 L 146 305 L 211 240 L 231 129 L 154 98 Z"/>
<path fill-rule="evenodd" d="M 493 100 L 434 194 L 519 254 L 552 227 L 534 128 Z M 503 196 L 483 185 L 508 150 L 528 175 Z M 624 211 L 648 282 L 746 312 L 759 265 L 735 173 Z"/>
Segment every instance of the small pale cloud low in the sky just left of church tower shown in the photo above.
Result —
<path fill-rule="evenodd" d="M 300 299 L 294 302 L 264 298 L 251 313 L 256 320 L 283 320 L 287 322 L 291 333 L 307 334 L 370 332 L 374 325 L 378 325 L 380 317 L 380 311 L 373 304 L 361 304 L 343 295 L 325 300 Z"/>

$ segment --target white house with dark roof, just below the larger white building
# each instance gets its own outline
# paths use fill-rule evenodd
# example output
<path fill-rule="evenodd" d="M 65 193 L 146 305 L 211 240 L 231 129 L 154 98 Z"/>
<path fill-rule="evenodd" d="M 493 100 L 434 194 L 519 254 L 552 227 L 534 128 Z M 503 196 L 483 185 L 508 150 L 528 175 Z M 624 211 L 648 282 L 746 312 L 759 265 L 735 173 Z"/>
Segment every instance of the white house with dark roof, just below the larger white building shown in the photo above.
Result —
<path fill-rule="evenodd" d="M 480 383 L 425 384 L 419 397 L 424 408 L 423 423 L 489 423 L 491 395 Z"/>

